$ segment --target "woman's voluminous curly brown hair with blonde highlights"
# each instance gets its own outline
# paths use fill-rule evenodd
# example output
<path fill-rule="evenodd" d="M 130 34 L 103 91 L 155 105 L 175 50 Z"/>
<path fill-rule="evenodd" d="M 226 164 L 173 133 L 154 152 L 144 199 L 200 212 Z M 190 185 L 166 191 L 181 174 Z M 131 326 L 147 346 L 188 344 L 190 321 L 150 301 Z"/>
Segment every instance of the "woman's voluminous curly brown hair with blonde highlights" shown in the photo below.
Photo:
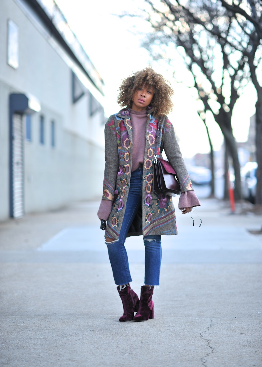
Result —
<path fill-rule="evenodd" d="M 171 97 L 174 91 L 167 83 L 167 80 L 165 80 L 161 74 L 157 74 L 152 67 L 149 66 L 123 80 L 119 87 L 117 103 L 121 107 L 131 108 L 135 89 L 138 86 L 150 86 L 154 87 L 154 97 L 150 103 L 153 109 L 153 115 L 155 117 L 168 115 L 173 107 Z"/>

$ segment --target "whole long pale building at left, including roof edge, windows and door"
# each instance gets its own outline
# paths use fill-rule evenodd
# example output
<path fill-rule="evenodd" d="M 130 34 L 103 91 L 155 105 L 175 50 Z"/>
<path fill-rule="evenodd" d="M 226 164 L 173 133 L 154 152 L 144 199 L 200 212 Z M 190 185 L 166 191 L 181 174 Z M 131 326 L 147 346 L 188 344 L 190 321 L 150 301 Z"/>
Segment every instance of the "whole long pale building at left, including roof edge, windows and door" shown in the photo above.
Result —
<path fill-rule="evenodd" d="M 53 0 L 1 0 L 0 220 L 102 196 L 103 86 Z"/>

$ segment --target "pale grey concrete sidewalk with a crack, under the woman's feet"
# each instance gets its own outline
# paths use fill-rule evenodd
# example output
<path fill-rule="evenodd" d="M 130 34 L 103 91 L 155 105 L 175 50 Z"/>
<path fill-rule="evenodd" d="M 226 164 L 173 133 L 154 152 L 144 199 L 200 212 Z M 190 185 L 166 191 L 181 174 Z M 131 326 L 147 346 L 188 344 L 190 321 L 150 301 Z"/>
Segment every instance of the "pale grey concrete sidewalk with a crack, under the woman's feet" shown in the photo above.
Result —
<path fill-rule="evenodd" d="M 175 198 L 175 207 L 177 208 Z M 120 323 L 98 202 L 0 223 L 0 366 L 262 366 L 262 215 L 201 200 L 163 236 L 155 319 Z M 142 237 L 127 239 L 132 288 Z"/>

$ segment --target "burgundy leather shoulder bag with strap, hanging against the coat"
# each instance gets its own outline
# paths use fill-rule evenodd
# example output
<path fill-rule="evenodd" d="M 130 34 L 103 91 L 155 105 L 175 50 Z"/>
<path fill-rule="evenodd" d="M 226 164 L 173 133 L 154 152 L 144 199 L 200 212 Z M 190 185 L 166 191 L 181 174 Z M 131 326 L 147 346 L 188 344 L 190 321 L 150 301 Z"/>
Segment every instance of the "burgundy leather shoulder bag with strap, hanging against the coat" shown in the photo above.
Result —
<path fill-rule="evenodd" d="M 153 190 L 157 194 L 175 196 L 181 194 L 180 185 L 174 168 L 171 164 L 162 159 L 157 158 L 157 142 L 159 139 L 160 123 L 157 125 L 156 148 L 154 151 L 154 167 L 153 167 Z"/>

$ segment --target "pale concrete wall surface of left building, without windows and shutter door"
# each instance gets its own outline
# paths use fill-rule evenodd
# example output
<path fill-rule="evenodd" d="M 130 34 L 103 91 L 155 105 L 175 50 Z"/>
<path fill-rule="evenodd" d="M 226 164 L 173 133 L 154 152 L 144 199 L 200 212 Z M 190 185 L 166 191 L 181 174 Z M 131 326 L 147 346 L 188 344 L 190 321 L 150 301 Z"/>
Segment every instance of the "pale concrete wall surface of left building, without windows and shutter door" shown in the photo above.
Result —
<path fill-rule="evenodd" d="M 22 4 L 22 5 L 21 5 Z M 19 28 L 19 66 L 7 64 L 7 22 Z M 72 102 L 72 69 L 85 84 L 85 95 Z M 24 143 L 25 212 L 59 208 L 73 200 L 102 196 L 104 168 L 103 110 L 90 116 L 89 91 L 102 95 L 50 37 L 23 2 L 0 3 L 0 220 L 9 217 L 9 95 L 34 95 L 41 111 L 32 115 L 32 141 Z M 44 144 L 39 142 L 44 116 Z M 51 121 L 55 147 L 51 146 Z M 25 116 L 23 116 L 25 125 Z"/>

